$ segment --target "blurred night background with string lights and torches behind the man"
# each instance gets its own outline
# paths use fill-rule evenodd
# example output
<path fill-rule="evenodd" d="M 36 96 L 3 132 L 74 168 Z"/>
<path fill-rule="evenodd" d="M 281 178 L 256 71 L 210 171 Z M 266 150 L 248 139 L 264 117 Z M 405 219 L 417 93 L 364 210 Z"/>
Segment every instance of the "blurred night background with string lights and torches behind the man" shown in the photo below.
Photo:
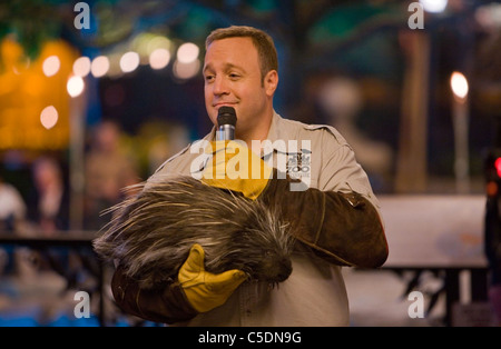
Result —
<path fill-rule="evenodd" d="M 3 0 L 0 326 L 155 326 L 114 307 L 89 241 L 124 187 L 210 130 L 204 42 L 230 24 L 274 38 L 276 111 L 336 127 L 382 199 L 397 258 L 346 271 L 353 326 L 451 326 L 455 300 L 480 305 L 462 308 L 478 315 L 473 325 L 494 323 L 483 217 L 501 118 L 501 1 Z M 419 201 L 435 198 L 433 210 Z M 416 200 L 424 216 L 402 220 Z M 451 202 L 464 212 L 436 219 Z M 434 219 L 462 230 L 435 243 L 425 235 L 441 226 L 425 226 Z M 452 257 L 426 263 L 418 252 L 428 245 L 414 245 L 403 260 L 402 233 L 414 232 Z M 458 296 L 474 282 L 480 291 Z M 90 295 L 90 317 L 73 313 L 78 290 Z M 412 290 L 425 296 L 419 319 L 407 312 Z"/>

